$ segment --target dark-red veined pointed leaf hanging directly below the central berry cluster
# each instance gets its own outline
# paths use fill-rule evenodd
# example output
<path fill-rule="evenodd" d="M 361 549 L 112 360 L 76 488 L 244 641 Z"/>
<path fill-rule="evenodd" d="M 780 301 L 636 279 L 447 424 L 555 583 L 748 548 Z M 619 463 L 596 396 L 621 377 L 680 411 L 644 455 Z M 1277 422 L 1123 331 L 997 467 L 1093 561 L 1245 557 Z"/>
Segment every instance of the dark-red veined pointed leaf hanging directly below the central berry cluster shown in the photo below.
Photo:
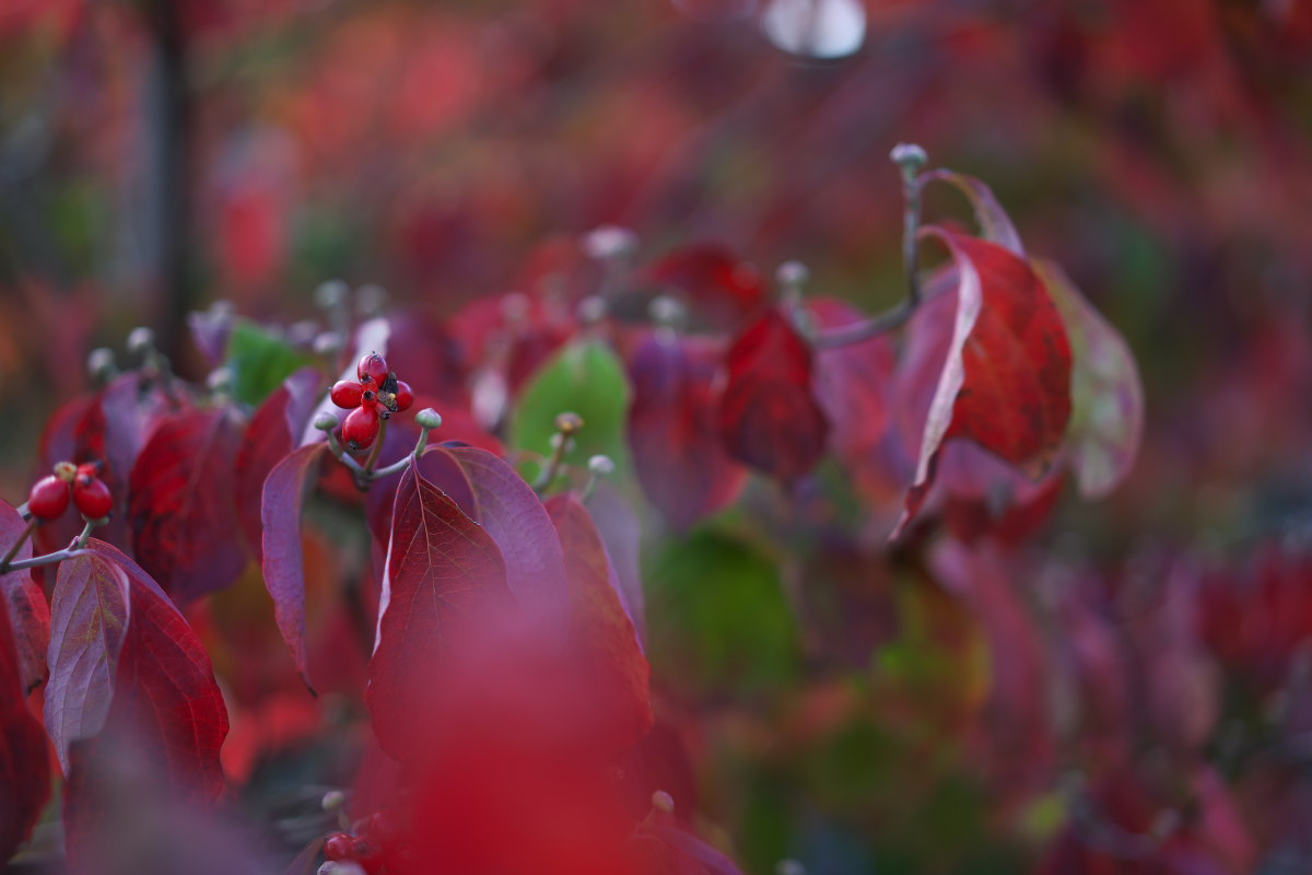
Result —
<path fill-rule="evenodd" d="M 383 749 L 405 760 L 426 732 L 416 706 L 451 639 L 510 592 L 492 537 L 415 466 L 396 489 L 386 563 L 366 702 Z"/>

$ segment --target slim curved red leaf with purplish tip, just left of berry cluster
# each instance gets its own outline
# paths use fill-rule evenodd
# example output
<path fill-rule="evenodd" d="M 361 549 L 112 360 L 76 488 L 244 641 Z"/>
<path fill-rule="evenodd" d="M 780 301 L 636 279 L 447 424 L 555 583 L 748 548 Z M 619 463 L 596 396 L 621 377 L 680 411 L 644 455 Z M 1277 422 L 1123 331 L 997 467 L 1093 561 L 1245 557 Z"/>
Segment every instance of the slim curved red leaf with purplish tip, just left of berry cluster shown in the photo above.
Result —
<path fill-rule="evenodd" d="M 260 499 L 264 480 L 273 467 L 291 453 L 300 441 L 323 374 L 302 367 L 279 386 L 251 417 L 235 460 L 237 521 L 247 544 L 258 559 L 262 550 Z"/>

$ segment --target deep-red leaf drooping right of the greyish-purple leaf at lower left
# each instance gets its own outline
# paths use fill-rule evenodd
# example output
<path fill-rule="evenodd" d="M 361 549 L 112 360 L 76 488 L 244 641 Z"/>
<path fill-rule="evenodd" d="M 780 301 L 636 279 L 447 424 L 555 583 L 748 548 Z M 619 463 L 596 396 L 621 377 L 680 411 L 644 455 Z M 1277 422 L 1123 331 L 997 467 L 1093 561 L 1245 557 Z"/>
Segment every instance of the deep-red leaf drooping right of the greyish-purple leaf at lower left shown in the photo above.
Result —
<path fill-rule="evenodd" d="M 205 645 L 140 565 L 96 538 L 87 552 L 117 564 L 127 575 L 130 593 L 106 732 L 127 732 L 163 760 L 163 771 L 180 796 L 218 799 L 228 711 Z"/>

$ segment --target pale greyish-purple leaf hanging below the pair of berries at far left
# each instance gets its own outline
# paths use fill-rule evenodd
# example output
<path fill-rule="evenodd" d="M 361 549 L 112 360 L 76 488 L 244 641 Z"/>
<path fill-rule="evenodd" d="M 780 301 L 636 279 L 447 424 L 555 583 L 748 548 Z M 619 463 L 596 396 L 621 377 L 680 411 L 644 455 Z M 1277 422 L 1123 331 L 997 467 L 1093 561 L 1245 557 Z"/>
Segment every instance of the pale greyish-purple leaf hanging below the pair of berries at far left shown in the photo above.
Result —
<path fill-rule="evenodd" d="M 66 773 L 68 746 L 94 737 L 109 716 L 129 606 L 127 575 L 117 563 L 91 552 L 59 563 L 51 602 L 46 731 Z"/>

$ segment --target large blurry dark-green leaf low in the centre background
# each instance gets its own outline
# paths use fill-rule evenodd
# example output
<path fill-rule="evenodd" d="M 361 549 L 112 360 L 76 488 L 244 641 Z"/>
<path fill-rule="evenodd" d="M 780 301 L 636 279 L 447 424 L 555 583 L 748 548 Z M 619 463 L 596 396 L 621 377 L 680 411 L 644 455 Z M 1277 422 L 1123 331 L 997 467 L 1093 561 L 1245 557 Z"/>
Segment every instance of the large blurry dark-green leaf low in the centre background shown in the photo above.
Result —
<path fill-rule="evenodd" d="M 775 564 L 748 544 L 710 531 L 670 542 L 644 582 L 648 657 L 663 682 L 722 697 L 796 676 L 796 618 Z"/>

